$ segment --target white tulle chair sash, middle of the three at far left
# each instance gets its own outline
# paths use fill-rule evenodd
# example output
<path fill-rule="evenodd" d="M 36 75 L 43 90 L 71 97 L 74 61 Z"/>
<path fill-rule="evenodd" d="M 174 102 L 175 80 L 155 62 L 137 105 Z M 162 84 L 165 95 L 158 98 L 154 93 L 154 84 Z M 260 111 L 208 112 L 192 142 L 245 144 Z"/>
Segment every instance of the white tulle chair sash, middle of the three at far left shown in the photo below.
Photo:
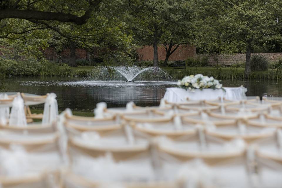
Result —
<path fill-rule="evenodd" d="M 24 112 L 24 99 L 21 97 L 20 93 L 17 93 L 17 96 L 13 100 L 9 125 L 27 126 L 26 114 Z"/>

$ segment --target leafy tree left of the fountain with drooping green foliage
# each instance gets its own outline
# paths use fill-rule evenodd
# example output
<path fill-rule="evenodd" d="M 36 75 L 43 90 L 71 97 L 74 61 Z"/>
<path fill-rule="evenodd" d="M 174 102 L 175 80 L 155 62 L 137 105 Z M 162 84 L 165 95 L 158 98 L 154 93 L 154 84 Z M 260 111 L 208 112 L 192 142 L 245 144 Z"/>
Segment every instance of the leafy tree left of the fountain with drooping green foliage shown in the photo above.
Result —
<path fill-rule="evenodd" d="M 19 2 L 24 3 L 26 1 Z M 33 6 L 39 2 L 41 1 L 34 1 Z M 55 3 L 55 1 L 52 2 Z M 66 14 L 70 14 L 71 11 L 75 14 L 78 14 L 79 12 L 79 14 L 86 14 L 85 11 L 78 8 L 80 7 L 83 10 L 88 10 L 88 6 L 90 6 L 90 3 L 94 1 L 68 1 L 66 4 L 63 4 L 63 2 L 64 1 L 56 1 L 58 4 L 53 6 L 51 1 L 44 1 L 41 2 L 43 5 L 40 5 L 42 10 L 53 11 L 54 9 L 54 11 L 56 11 L 57 8 L 61 6 L 62 11 L 67 12 Z M 74 7 L 72 7 L 73 4 Z M 44 43 L 38 43 L 33 46 L 33 49 L 37 49 L 38 51 L 40 48 L 46 48 L 53 45 L 55 41 L 63 41 L 62 44 L 56 43 L 56 46 L 70 48 L 70 61 L 68 62 L 70 66 L 76 66 L 75 49 L 78 46 L 87 48 L 89 51 L 95 51 L 95 53 L 99 50 L 103 51 L 101 56 L 104 58 L 104 61 L 113 62 L 113 59 L 122 59 L 120 61 L 123 61 L 128 57 L 127 53 L 131 49 L 131 36 L 128 36 L 126 33 L 121 31 L 120 26 L 122 23 L 115 18 L 115 14 L 102 14 L 102 12 L 105 11 L 110 12 L 110 10 L 107 10 L 108 4 L 111 4 L 111 1 L 104 0 L 99 4 L 99 6 L 95 6 L 95 10 L 91 11 L 90 17 L 83 25 L 78 25 L 75 22 L 62 22 L 62 20 L 59 19 L 2 19 L 0 21 L 0 38 L 5 38 L 10 41 L 23 41 L 23 47 L 30 50 L 28 43 L 35 40 L 33 35 L 34 33 L 37 33 L 35 36 L 38 36 L 38 39 L 41 38 L 44 41 Z M 21 4 L 19 3 L 17 6 L 20 5 Z M 25 8 L 26 6 L 23 7 Z M 70 10 L 66 9 L 67 6 L 71 7 Z M 37 10 L 37 6 L 30 9 Z"/>

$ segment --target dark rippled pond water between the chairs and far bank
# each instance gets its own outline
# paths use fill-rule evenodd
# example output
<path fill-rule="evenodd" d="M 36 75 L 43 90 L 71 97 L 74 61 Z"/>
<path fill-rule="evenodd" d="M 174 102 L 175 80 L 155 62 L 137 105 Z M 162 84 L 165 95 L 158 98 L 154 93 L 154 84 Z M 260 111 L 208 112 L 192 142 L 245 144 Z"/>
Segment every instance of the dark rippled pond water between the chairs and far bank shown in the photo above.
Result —
<path fill-rule="evenodd" d="M 6 79 L 8 91 L 19 91 L 45 95 L 57 94 L 60 110 L 71 108 L 78 110 L 93 109 L 96 103 L 106 102 L 108 107 L 125 107 L 133 101 L 140 106 L 159 105 L 167 87 L 175 86 L 174 81 L 94 81 L 83 78 L 58 77 L 9 77 Z M 226 87 L 244 85 L 247 96 L 282 96 L 282 82 L 273 80 L 222 81 Z"/>

